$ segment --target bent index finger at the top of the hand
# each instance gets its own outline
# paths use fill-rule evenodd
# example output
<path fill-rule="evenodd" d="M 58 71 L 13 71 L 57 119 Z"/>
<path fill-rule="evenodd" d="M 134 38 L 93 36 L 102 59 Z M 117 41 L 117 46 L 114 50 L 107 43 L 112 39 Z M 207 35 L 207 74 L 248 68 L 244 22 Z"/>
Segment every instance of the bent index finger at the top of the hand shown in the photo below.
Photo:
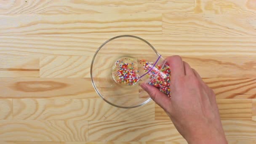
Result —
<path fill-rule="evenodd" d="M 173 78 L 185 76 L 184 64 L 180 56 L 169 56 L 165 60 L 170 64 Z"/>

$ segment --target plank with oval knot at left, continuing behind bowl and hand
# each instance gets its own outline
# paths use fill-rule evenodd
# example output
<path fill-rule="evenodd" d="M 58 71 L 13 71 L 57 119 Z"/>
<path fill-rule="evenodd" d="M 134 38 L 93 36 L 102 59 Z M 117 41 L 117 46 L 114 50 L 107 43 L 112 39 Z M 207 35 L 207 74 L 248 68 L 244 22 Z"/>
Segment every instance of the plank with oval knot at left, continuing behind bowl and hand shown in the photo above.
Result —
<path fill-rule="evenodd" d="M 254 78 L 206 78 L 204 81 L 216 93 L 217 99 L 253 99 L 255 98 Z M 1 78 L 1 98 L 98 98 L 90 78 Z M 112 93 L 115 88 L 99 87 Z M 138 91 L 117 91 L 113 98 L 122 93 L 131 93 L 138 98 Z M 113 94 L 113 93 L 112 93 Z M 146 94 L 146 93 L 144 93 Z M 144 97 L 140 95 L 139 97 Z M 146 96 L 148 97 L 148 96 Z"/>

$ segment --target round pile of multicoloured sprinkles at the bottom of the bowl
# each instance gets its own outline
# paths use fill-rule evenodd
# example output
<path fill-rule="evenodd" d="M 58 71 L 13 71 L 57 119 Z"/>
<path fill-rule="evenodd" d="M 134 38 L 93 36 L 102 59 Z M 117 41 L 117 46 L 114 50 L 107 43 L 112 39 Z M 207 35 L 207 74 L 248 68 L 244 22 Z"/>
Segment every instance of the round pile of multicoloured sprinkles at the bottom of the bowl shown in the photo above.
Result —
<path fill-rule="evenodd" d="M 131 58 L 119 59 L 113 68 L 112 75 L 117 83 L 123 85 L 134 85 L 139 81 L 137 76 L 137 62 Z"/>

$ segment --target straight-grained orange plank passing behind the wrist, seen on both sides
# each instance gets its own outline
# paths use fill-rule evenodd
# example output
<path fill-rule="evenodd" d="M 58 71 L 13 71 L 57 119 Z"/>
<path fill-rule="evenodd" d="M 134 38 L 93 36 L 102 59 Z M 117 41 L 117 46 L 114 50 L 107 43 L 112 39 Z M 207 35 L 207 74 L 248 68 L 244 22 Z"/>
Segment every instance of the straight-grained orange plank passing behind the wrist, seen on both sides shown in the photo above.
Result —
<path fill-rule="evenodd" d="M 217 99 L 221 120 L 251 120 L 251 99 Z M 170 120 L 164 110 L 155 104 L 155 119 Z"/>

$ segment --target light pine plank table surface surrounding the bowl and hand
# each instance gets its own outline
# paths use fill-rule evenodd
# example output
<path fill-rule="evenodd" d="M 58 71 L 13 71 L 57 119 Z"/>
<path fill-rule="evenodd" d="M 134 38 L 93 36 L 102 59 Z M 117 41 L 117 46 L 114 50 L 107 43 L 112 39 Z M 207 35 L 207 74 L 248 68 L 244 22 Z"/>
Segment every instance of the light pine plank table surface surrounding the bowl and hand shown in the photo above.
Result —
<path fill-rule="evenodd" d="M 120 109 L 94 91 L 93 54 L 124 34 L 181 55 L 229 143 L 256 143 L 256 0 L 0 0 L 0 144 L 186 144 L 153 101 Z"/>

